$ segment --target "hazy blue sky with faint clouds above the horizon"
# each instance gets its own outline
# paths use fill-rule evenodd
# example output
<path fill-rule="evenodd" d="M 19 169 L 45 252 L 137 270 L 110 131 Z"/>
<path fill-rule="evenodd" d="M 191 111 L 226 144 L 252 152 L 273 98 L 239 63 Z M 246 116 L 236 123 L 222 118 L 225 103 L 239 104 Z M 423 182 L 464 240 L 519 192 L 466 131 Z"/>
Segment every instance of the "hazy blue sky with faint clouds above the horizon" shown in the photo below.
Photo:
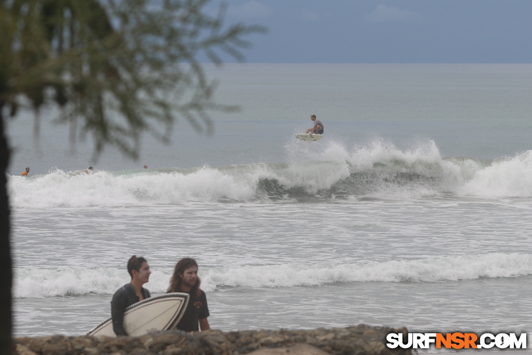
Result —
<path fill-rule="evenodd" d="M 211 2 L 214 11 L 221 1 Z M 531 63 L 532 0 L 226 0 L 246 62 Z M 226 61 L 231 61 L 225 58 Z"/>

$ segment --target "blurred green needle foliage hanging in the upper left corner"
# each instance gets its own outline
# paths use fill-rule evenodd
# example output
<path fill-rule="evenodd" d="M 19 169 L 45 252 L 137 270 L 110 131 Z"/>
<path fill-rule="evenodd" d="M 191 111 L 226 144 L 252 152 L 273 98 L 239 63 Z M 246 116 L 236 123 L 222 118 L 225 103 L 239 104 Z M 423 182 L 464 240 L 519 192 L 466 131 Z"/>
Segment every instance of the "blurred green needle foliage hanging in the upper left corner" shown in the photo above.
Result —
<path fill-rule="evenodd" d="M 236 110 L 213 101 L 215 82 L 202 53 L 220 65 L 223 53 L 242 61 L 244 37 L 262 26 L 224 24 L 206 13 L 209 0 L 0 0 L 0 103 L 60 108 L 70 140 L 93 136 L 136 158 L 140 136 L 162 141 L 184 119 L 213 132 L 211 110 Z"/>

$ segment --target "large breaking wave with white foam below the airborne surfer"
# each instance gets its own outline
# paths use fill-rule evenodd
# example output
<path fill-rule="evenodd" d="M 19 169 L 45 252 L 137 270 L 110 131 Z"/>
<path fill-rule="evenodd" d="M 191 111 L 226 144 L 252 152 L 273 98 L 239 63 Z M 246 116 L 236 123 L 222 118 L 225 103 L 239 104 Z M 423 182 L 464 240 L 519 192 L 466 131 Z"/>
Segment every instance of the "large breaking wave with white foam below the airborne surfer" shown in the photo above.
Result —
<path fill-rule="evenodd" d="M 532 196 L 532 151 L 491 162 L 442 158 L 432 141 L 410 150 L 379 140 L 352 150 L 334 141 L 320 152 L 300 149 L 304 150 L 299 154 L 314 160 L 92 175 L 55 170 L 29 178 L 9 176 L 9 191 L 12 205 L 20 208 L 249 201 L 272 195 L 297 198 L 297 193 L 327 196 L 337 191 L 377 197 L 442 192 Z"/>

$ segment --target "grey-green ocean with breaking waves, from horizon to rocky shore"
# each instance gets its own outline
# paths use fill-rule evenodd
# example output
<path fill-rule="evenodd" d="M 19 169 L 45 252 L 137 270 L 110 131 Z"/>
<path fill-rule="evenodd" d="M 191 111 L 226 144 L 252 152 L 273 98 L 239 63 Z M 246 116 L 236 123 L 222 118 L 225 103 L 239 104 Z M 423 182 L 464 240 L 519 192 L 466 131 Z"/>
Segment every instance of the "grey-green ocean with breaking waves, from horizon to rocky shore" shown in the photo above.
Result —
<path fill-rule="evenodd" d="M 215 329 L 532 329 L 532 64 L 206 72 L 241 110 L 138 160 L 72 149 L 53 109 L 38 139 L 7 123 L 15 336 L 88 332 L 133 254 L 152 294 L 194 257 Z M 296 140 L 311 114 L 323 139 Z"/>

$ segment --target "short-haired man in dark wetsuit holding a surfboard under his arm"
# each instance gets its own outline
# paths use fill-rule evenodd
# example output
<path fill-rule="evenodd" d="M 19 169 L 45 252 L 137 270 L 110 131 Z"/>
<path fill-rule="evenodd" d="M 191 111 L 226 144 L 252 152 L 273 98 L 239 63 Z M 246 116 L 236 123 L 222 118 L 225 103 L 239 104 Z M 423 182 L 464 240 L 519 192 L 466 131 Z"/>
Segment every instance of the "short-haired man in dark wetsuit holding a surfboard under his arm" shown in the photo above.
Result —
<path fill-rule="evenodd" d="M 118 289 L 114 293 L 111 301 L 111 317 L 113 319 L 113 330 L 117 335 L 128 335 L 124 329 L 124 311 L 134 303 L 149 298 L 149 291 L 142 287 L 149 281 L 149 265 L 144 257 L 133 255 L 128 261 L 128 272 L 131 282 Z"/>

